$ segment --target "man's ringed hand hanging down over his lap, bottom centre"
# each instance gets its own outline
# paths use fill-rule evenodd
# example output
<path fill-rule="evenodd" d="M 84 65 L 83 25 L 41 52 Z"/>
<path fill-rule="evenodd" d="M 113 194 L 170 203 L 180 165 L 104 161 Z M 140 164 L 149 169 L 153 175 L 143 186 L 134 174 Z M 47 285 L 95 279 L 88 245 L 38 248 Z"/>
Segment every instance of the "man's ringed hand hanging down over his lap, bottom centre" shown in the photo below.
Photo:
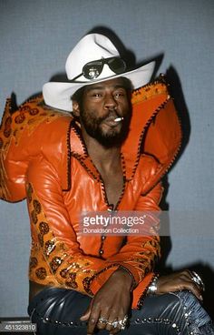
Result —
<path fill-rule="evenodd" d="M 121 326 L 112 327 L 114 320 L 123 320 L 131 305 L 132 278 L 124 269 L 117 269 L 92 299 L 81 320 L 88 320 L 87 335 L 95 328 L 116 334 Z M 101 321 L 102 318 L 102 321 Z"/>

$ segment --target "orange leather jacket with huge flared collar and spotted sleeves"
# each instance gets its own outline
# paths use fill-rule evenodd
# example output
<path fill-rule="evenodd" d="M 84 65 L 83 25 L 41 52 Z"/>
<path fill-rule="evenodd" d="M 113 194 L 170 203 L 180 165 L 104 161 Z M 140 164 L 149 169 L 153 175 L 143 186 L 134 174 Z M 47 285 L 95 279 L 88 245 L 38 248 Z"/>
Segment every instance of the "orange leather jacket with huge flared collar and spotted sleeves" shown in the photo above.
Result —
<path fill-rule="evenodd" d="M 134 91 L 131 103 L 131 129 L 121 152 L 124 185 L 115 209 L 157 211 L 160 178 L 180 147 L 180 122 L 162 77 Z M 42 96 L 11 113 L 8 99 L 0 149 L 0 197 L 27 199 L 29 279 L 93 296 L 122 266 L 135 282 L 132 307 L 139 307 L 160 256 L 160 239 L 79 233 L 83 210 L 105 211 L 110 204 L 71 114 L 45 106 Z"/>

